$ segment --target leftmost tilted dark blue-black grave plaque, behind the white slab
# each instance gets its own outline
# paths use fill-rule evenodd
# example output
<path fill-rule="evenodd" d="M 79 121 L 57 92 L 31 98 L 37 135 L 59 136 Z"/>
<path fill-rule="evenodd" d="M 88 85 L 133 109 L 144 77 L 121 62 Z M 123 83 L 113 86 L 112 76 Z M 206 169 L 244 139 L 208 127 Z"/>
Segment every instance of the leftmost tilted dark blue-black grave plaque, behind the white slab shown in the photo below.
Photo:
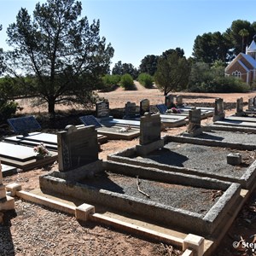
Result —
<path fill-rule="evenodd" d="M 7 121 L 15 133 L 22 134 L 24 137 L 27 136 L 30 131 L 41 130 L 41 126 L 33 116 L 8 119 Z"/>

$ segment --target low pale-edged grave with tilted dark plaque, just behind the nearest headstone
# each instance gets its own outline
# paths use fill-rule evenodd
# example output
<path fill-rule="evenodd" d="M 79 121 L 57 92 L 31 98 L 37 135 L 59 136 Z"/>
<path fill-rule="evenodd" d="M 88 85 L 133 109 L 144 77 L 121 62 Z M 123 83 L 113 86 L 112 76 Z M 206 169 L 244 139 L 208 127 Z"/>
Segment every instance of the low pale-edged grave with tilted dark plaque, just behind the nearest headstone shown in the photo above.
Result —
<path fill-rule="evenodd" d="M 124 122 L 123 125 L 110 125 L 108 120 L 106 125 L 101 124 L 93 115 L 85 115 L 79 118 L 84 125 L 94 125 L 98 134 L 108 137 L 108 139 L 131 140 L 139 136 L 139 130 Z M 104 123 L 105 124 L 105 123 Z"/>

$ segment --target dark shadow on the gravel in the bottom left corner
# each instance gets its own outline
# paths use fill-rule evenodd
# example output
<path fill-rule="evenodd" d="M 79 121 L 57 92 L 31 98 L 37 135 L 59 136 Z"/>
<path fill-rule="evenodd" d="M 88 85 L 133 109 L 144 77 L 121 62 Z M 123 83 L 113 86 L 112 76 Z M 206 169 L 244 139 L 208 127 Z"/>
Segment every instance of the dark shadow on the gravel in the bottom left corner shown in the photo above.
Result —
<path fill-rule="evenodd" d="M 15 246 L 10 231 L 11 219 L 17 216 L 15 211 L 4 212 L 3 223 L 0 224 L 0 255 L 15 255 Z"/>

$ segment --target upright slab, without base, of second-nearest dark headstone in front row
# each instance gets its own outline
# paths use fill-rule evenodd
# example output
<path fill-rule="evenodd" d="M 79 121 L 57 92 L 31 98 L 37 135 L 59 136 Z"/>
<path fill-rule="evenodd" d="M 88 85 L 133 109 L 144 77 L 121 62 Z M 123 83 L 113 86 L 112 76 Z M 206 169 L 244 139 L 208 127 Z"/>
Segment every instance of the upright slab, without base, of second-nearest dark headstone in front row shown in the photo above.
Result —
<path fill-rule="evenodd" d="M 160 114 L 145 113 L 145 115 L 141 117 L 140 132 L 140 145 L 146 145 L 160 140 Z"/>

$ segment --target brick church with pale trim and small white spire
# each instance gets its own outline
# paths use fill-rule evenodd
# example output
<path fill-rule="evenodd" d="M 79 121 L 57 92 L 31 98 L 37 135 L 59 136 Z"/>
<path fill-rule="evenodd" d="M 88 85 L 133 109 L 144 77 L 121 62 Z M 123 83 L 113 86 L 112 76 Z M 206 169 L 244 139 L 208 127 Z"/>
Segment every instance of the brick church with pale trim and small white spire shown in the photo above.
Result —
<path fill-rule="evenodd" d="M 225 68 L 225 75 L 236 76 L 247 84 L 256 81 L 256 36 L 250 46 L 247 46 L 246 53 L 237 55 Z"/>

